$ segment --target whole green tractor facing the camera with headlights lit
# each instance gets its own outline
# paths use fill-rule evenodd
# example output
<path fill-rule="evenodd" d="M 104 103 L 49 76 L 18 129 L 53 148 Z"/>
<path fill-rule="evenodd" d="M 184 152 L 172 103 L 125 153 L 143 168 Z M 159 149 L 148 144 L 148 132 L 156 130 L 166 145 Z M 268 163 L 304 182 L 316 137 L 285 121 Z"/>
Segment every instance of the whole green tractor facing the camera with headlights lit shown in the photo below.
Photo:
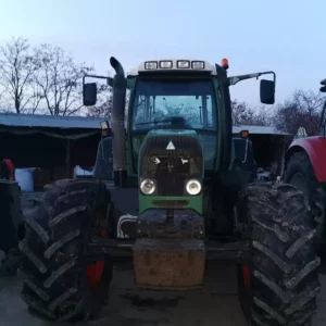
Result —
<path fill-rule="evenodd" d="M 113 88 L 93 179 L 48 186 L 26 224 L 18 273 L 29 309 L 59 321 L 95 315 L 121 258 L 133 260 L 138 289 L 163 291 L 200 288 L 206 261 L 234 260 L 250 325 L 312 325 L 319 258 L 303 193 L 255 183 L 248 131 L 233 138 L 229 87 L 269 74 L 260 97 L 273 104 L 275 74 L 228 77 L 227 60 L 148 61 L 127 77 L 111 65 L 114 78 L 90 76 Z M 84 80 L 84 104 L 96 102 L 97 84 Z"/>

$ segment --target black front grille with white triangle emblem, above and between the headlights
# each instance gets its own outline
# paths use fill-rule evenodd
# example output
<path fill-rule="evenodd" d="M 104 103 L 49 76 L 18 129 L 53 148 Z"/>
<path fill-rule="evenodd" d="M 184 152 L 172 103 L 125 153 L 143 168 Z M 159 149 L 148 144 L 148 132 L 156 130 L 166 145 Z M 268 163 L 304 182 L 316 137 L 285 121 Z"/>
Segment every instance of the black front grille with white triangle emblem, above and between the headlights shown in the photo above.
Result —
<path fill-rule="evenodd" d="M 175 150 L 167 150 L 172 143 Z M 196 137 L 154 136 L 145 140 L 139 177 L 156 180 L 158 196 L 183 196 L 185 181 L 202 176 L 202 149 Z"/>

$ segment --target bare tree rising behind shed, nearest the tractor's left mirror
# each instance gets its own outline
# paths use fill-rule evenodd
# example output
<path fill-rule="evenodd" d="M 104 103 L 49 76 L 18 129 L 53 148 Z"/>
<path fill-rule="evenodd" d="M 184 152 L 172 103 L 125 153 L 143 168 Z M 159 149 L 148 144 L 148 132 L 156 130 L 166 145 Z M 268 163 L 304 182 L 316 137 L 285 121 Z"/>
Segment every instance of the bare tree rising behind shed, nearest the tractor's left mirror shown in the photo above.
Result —
<path fill-rule="evenodd" d="M 74 115 L 83 108 L 82 79 L 92 71 L 85 63 L 76 64 L 63 49 L 42 45 L 35 51 L 34 78 L 38 96 L 51 115 Z"/>

